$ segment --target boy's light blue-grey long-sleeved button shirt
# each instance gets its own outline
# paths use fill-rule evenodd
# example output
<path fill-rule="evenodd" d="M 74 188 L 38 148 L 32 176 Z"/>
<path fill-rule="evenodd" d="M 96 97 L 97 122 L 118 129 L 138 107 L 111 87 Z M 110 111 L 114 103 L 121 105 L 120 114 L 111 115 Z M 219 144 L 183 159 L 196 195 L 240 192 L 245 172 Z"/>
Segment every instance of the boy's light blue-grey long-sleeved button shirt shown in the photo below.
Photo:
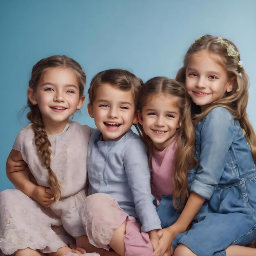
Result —
<path fill-rule="evenodd" d="M 132 130 L 117 141 L 103 141 L 99 130 L 90 137 L 87 156 L 88 194 L 107 193 L 130 216 L 139 218 L 141 231 L 161 229 L 154 197 L 146 147 Z"/>

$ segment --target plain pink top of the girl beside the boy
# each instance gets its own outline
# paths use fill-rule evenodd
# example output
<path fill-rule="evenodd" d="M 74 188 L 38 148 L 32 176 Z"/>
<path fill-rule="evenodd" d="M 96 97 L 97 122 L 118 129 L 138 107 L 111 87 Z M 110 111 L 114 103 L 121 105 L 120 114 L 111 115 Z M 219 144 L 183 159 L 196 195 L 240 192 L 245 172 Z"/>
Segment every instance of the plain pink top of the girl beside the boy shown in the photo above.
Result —
<path fill-rule="evenodd" d="M 175 139 L 167 148 L 162 151 L 153 152 L 151 159 L 151 186 L 159 204 L 162 195 L 171 195 L 173 193 L 173 168 L 175 153 L 177 150 L 177 139 Z"/>

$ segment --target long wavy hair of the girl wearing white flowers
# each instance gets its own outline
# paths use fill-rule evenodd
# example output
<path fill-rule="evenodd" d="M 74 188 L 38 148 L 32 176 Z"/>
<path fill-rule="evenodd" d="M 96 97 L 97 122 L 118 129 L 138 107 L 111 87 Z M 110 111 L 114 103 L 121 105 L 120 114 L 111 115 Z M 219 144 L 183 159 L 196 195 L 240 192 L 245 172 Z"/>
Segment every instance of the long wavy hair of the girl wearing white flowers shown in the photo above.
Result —
<path fill-rule="evenodd" d="M 230 45 L 233 45 L 236 52 L 238 52 L 238 49 L 234 43 L 224 38 L 223 40 Z M 244 68 L 240 67 L 234 58 L 228 55 L 227 47 L 218 42 L 218 37 L 204 35 L 198 38 L 198 40 L 195 40 L 195 42 L 186 52 L 183 67 L 177 72 L 176 80 L 183 84 L 186 83 L 186 67 L 189 60 L 193 54 L 196 54 L 202 50 L 207 50 L 210 54 L 212 54 L 212 56 L 215 54 L 216 58 L 214 59 L 218 61 L 218 64 L 222 65 L 222 67 L 227 71 L 230 81 L 233 81 L 233 88 L 231 92 L 226 92 L 222 99 L 211 103 L 203 112 L 200 112 L 200 108 L 198 108 L 198 106 L 192 104 L 194 124 L 197 124 L 200 119 L 206 117 L 213 108 L 219 106 L 226 108 L 231 112 L 234 119 L 239 121 L 245 138 L 250 145 L 254 163 L 256 164 L 256 136 L 246 112 L 249 97 L 249 77 L 245 73 Z M 240 61 L 240 56 L 238 56 L 238 59 Z"/>

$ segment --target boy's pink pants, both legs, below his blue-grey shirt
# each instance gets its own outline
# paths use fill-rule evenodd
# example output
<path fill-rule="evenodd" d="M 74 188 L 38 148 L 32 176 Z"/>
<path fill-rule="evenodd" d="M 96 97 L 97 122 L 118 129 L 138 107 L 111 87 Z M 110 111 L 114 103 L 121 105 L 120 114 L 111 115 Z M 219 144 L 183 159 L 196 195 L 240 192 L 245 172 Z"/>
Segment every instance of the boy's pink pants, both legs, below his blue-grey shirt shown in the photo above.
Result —
<path fill-rule="evenodd" d="M 125 256 L 150 256 L 153 247 L 148 233 L 141 232 L 141 225 L 119 207 L 117 200 L 108 194 L 96 193 L 85 198 L 81 219 L 89 242 L 109 250 L 113 233 L 126 221 L 124 236 Z"/>

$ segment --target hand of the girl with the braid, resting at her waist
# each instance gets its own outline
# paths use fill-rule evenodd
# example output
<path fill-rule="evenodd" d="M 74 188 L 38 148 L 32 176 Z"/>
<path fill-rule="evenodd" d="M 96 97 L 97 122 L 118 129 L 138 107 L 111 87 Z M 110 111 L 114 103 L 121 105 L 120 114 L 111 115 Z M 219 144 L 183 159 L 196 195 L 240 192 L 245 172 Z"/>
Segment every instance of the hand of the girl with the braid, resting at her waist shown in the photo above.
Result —
<path fill-rule="evenodd" d="M 50 207 L 55 202 L 52 190 L 46 186 L 35 186 L 32 198 L 44 207 Z"/>

